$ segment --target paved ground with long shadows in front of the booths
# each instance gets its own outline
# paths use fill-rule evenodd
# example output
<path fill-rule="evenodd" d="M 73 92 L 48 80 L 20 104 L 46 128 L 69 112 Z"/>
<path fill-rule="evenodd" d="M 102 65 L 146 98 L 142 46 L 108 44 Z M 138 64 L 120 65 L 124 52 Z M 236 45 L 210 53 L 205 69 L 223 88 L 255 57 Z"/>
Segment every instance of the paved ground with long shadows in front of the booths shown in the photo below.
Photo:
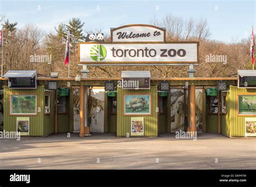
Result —
<path fill-rule="evenodd" d="M 195 141 L 175 139 L 174 134 L 79 138 L 73 133 L 71 138 L 53 134 L 0 139 L 0 169 L 256 169 L 256 138 L 210 133 L 199 134 Z"/>

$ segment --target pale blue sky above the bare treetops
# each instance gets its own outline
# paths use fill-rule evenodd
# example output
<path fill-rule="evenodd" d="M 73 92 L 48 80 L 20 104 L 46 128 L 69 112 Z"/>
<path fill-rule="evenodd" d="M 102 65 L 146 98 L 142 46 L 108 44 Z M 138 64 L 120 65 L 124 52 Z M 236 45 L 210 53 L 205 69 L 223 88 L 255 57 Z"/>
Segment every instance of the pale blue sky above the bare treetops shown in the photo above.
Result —
<path fill-rule="evenodd" d="M 157 8 L 159 8 L 157 10 Z M 216 10 L 218 9 L 218 10 Z M 206 18 L 210 39 L 230 42 L 251 35 L 255 26 L 256 3 L 250 1 L 12 1 L 0 0 L 0 13 L 9 21 L 35 24 L 45 32 L 55 32 L 54 26 L 67 23 L 72 17 L 85 22 L 88 30 L 126 24 L 150 24 L 153 17 L 161 20 L 167 13 L 195 19 Z M 256 31 L 254 30 L 254 33 Z"/>

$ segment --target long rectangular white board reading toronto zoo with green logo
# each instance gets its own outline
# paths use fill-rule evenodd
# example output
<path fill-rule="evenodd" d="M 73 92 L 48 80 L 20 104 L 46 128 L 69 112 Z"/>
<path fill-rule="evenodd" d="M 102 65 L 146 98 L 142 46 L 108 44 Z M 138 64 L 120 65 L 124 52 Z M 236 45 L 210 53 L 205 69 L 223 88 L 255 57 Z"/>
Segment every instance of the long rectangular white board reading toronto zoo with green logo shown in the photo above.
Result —
<path fill-rule="evenodd" d="M 80 64 L 199 63 L 198 42 L 78 43 Z"/>

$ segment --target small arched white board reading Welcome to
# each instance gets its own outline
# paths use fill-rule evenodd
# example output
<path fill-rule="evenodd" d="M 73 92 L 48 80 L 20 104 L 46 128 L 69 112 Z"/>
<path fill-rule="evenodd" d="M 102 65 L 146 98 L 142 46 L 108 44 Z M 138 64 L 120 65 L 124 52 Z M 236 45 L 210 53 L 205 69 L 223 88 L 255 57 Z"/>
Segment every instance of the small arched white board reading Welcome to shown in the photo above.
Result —
<path fill-rule="evenodd" d="M 165 29 L 153 25 L 124 25 L 112 28 L 111 42 L 165 41 Z"/>

